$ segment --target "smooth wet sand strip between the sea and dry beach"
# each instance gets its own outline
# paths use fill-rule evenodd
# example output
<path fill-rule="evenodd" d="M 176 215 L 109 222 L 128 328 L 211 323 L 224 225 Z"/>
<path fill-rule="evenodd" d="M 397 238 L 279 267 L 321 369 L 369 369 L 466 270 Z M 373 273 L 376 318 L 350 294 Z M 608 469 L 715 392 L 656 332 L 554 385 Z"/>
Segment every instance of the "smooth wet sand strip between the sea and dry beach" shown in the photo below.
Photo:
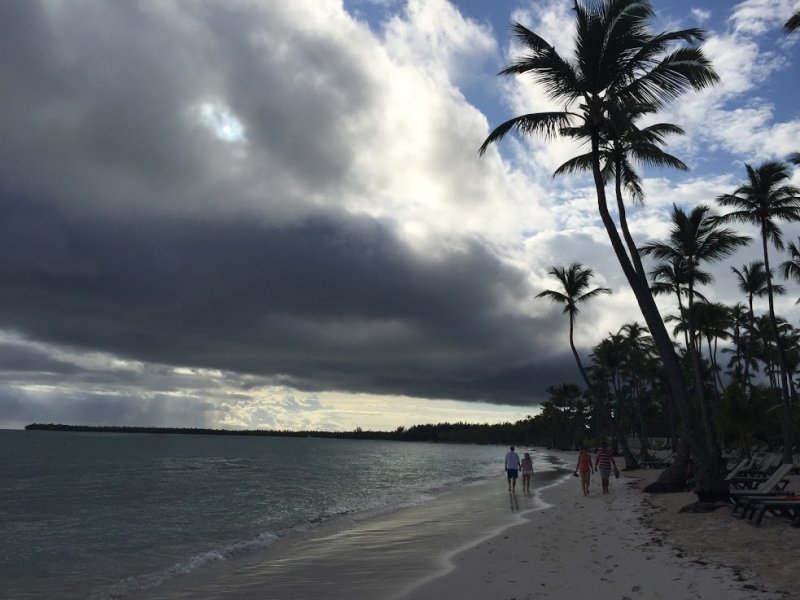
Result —
<path fill-rule="evenodd" d="M 539 486 L 563 478 L 541 474 Z M 338 520 L 282 540 L 257 556 L 225 561 L 136 598 L 295 600 L 401 598 L 446 573 L 450 557 L 545 507 L 535 493 L 509 494 L 506 480 L 456 489 L 386 515 Z"/>

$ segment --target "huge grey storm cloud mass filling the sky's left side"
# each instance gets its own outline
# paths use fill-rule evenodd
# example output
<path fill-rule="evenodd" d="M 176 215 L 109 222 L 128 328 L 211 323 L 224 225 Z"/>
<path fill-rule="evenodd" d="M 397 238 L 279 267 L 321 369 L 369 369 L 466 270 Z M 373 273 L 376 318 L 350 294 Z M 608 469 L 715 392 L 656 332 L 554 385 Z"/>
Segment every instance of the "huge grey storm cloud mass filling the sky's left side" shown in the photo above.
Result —
<path fill-rule="evenodd" d="M 385 90 L 331 37 L 346 23 L 300 26 L 294 3 L 75 6 L 0 5 L 0 328 L 309 391 L 531 404 L 575 379 L 553 354 L 563 320 L 514 308 L 534 292 L 490 244 L 454 233 L 425 255 L 391 218 L 354 216 L 353 144 Z M 218 139 L 204 102 L 246 139 Z M 447 148 L 442 177 L 480 202 Z M 2 368 L 169 380 L 29 349 Z"/>

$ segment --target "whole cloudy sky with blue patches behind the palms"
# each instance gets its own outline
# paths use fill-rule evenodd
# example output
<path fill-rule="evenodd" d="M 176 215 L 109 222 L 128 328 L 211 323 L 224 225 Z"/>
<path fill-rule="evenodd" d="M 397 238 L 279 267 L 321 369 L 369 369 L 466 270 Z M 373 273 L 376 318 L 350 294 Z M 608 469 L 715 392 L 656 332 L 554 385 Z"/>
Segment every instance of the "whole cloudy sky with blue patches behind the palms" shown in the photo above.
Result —
<path fill-rule="evenodd" d="M 800 151 L 800 0 L 654 7 L 656 29 L 707 30 L 721 81 L 658 116 L 691 170 L 642 171 L 640 244 Z M 591 182 L 552 177 L 580 148 L 478 156 L 552 106 L 497 76 L 515 21 L 569 55 L 564 0 L 0 3 L 0 428 L 493 423 L 578 383 L 535 299 L 552 266 L 613 290 L 578 317 L 584 356 L 643 320 Z M 704 294 L 741 300 L 730 267 L 759 252 Z"/>

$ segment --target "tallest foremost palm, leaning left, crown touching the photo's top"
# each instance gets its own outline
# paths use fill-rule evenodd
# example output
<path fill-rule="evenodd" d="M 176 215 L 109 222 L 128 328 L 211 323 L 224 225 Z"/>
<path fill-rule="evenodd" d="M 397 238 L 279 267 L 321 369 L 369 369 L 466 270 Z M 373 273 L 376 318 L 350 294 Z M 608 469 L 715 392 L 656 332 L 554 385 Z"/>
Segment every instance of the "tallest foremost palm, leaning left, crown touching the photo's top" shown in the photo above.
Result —
<path fill-rule="evenodd" d="M 634 264 L 635 253 L 626 249 L 611 218 L 601 165 L 604 144 L 620 137 L 615 131 L 624 130 L 612 126 L 611 115 L 618 116 L 625 110 L 629 114 L 641 112 L 641 107 L 654 112 L 684 92 L 708 87 L 719 78 L 702 50 L 694 45 L 703 40 L 704 32 L 683 29 L 654 33 L 649 26 L 654 11 L 647 0 L 598 0 L 591 6 L 576 1 L 573 6 L 577 26 L 574 60 L 562 57 L 539 35 L 515 23 L 514 33 L 527 46 L 528 53 L 501 71 L 504 75 L 533 75 L 564 109 L 529 113 L 506 121 L 489 134 L 479 153 L 485 153 L 490 144 L 514 130 L 589 142 L 598 211 L 664 363 L 684 435 L 695 450 L 696 490 L 704 498 L 724 496 L 727 486 L 719 475 L 716 457 L 708 455 L 703 447 L 703 435 L 697 429 L 672 340 L 649 287 Z M 676 47 L 681 42 L 688 45 Z M 672 476 L 677 482 L 683 473 L 672 471 L 664 476 Z"/>

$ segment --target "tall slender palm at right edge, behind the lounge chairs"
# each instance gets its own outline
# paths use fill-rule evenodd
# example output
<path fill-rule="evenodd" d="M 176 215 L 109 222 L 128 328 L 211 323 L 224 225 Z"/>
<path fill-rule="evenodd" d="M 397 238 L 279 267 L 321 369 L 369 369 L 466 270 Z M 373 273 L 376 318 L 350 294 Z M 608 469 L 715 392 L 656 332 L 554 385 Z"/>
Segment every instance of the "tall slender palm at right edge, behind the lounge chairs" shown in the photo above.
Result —
<path fill-rule="evenodd" d="M 734 208 L 733 212 L 719 218 L 723 223 L 750 223 L 761 231 L 761 245 L 764 252 L 764 270 L 767 274 L 767 299 L 769 300 L 769 317 L 772 321 L 774 341 L 778 349 L 781 368 L 781 390 L 783 392 L 783 461 L 792 461 L 794 449 L 794 431 L 792 428 L 791 398 L 789 392 L 788 369 L 786 356 L 778 332 L 775 318 L 774 291 L 772 273 L 769 267 L 769 245 L 783 249 L 783 234 L 777 225 L 778 221 L 800 221 L 800 188 L 786 183 L 790 176 L 788 164 L 779 161 L 768 161 L 757 168 L 745 164 L 747 183 L 738 187 L 732 194 L 723 194 L 717 198 L 724 207 Z"/>

